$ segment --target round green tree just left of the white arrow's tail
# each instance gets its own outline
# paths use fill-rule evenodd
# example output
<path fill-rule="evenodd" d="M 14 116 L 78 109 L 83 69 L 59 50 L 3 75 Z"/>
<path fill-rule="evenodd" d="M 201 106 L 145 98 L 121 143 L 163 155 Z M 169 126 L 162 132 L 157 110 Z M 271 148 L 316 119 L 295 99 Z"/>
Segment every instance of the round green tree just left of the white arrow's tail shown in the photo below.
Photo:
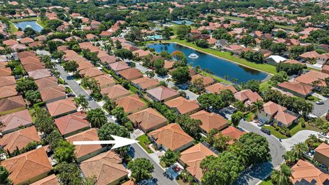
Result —
<path fill-rule="evenodd" d="M 59 140 L 58 146 L 53 152 L 53 157 L 57 162 L 73 162 L 75 158 L 75 147 L 67 140 Z"/>

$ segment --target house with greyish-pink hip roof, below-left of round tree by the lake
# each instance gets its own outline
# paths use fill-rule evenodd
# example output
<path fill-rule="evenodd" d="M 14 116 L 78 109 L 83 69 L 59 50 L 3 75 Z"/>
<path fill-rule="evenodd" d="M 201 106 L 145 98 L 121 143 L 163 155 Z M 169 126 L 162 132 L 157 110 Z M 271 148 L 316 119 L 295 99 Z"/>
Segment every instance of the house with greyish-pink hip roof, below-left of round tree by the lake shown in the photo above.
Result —
<path fill-rule="evenodd" d="M 178 93 L 177 90 L 167 88 L 165 86 L 158 86 L 156 88 L 149 89 L 146 91 L 146 94 L 152 101 L 159 102 L 168 101 L 180 96 L 180 93 Z"/>

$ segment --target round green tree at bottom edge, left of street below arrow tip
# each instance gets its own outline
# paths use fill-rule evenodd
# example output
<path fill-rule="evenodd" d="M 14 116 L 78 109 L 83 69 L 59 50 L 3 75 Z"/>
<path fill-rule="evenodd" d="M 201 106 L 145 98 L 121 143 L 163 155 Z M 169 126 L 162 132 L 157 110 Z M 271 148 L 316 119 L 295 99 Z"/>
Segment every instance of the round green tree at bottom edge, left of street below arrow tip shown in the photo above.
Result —
<path fill-rule="evenodd" d="M 134 180 L 140 182 L 141 180 L 148 180 L 152 177 L 151 173 L 154 171 L 154 166 L 149 160 L 138 158 L 131 160 L 127 165 L 127 169 L 132 171 Z"/>

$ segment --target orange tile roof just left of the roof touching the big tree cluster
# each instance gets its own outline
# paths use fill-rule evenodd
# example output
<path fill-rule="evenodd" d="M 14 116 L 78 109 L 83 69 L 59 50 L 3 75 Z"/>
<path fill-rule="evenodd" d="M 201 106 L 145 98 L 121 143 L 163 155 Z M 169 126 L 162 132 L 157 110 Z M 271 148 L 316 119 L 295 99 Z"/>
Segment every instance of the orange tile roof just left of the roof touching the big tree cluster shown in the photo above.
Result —
<path fill-rule="evenodd" d="M 202 125 L 200 127 L 206 132 L 209 132 L 212 129 L 222 130 L 223 128 L 228 127 L 228 121 L 222 116 L 215 113 L 209 113 L 204 110 L 200 110 L 199 112 L 192 114 L 191 118 L 201 120 Z"/>

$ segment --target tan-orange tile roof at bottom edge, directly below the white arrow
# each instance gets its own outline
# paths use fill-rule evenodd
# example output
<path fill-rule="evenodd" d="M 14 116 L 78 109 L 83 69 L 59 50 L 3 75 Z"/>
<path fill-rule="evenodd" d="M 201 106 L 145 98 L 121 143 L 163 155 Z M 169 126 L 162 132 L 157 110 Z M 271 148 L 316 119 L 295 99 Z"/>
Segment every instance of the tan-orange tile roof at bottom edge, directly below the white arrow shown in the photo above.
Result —
<path fill-rule="evenodd" d="M 86 177 L 95 176 L 97 185 L 112 184 L 128 175 L 119 154 L 114 151 L 101 153 L 81 162 L 80 168 Z"/>

